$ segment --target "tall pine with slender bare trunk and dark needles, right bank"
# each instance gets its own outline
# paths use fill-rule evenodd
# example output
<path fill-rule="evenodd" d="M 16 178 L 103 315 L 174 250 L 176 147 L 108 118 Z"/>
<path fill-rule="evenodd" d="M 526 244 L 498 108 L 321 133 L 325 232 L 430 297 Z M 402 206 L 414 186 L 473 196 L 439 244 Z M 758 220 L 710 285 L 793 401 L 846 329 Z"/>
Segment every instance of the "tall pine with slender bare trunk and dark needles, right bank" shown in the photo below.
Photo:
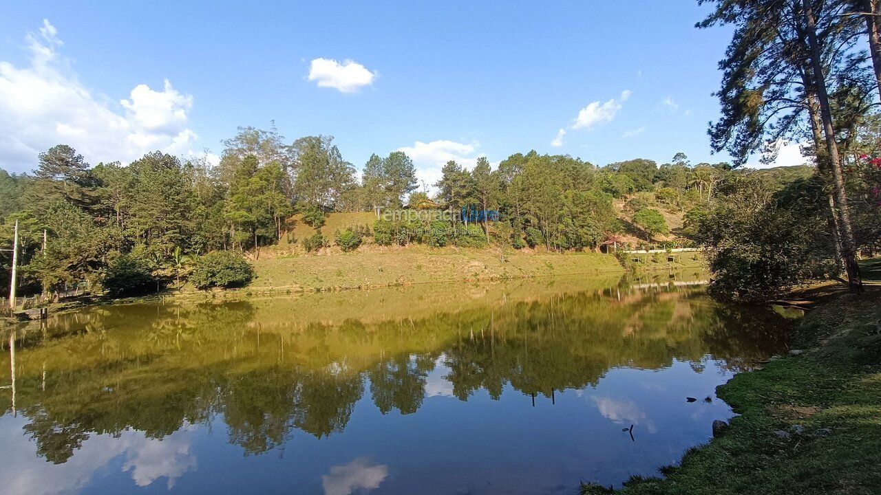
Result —
<path fill-rule="evenodd" d="M 701 0 L 704 3 L 709 0 Z M 829 82 L 862 78 L 862 58 L 853 49 L 860 21 L 842 15 L 847 3 L 812 0 L 717 0 L 699 27 L 735 24 L 726 57 L 722 119 L 710 127 L 715 150 L 727 149 L 742 164 L 764 144 L 774 153 L 783 137 L 811 129 L 818 167 L 831 190 L 833 223 L 840 240 L 851 292 L 862 291 L 847 190 L 835 136 Z M 801 125 L 807 114 L 808 126 Z M 765 140 L 765 138 L 767 139 Z M 819 152 L 822 150 L 823 152 Z"/>

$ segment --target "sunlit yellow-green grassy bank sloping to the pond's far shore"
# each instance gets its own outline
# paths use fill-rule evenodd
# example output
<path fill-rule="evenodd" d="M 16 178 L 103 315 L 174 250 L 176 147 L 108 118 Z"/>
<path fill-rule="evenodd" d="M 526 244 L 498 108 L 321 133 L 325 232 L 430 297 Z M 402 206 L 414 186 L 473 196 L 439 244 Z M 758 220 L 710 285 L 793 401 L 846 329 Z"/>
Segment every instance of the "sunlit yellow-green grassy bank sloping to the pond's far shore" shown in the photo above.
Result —
<path fill-rule="evenodd" d="M 663 258 L 665 259 L 665 258 Z M 649 261 L 640 270 L 683 270 L 702 261 L 682 257 L 683 262 Z M 502 255 L 498 248 L 455 249 L 408 246 L 375 252 L 325 255 L 289 255 L 254 263 L 257 277 L 248 291 L 292 292 L 384 287 L 389 285 L 474 282 L 530 277 L 595 276 L 623 273 L 613 255 L 600 253 L 556 254 L 518 252 Z"/>

